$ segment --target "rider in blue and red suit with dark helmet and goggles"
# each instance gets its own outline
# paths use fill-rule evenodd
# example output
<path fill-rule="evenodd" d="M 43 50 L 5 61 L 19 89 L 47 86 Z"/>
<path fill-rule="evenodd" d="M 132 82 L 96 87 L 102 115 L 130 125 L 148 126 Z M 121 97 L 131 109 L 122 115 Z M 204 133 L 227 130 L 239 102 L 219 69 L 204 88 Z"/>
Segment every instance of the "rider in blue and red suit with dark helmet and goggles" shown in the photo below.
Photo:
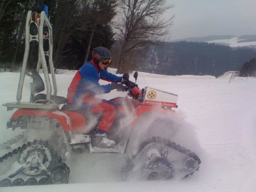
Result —
<path fill-rule="evenodd" d="M 111 62 L 111 52 L 105 47 L 96 47 L 92 51 L 92 60 L 86 62 L 74 76 L 67 94 L 67 103 L 78 111 L 86 111 L 90 107 L 93 113 L 103 113 L 98 124 L 97 133 L 92 138 L 92 145 L 113 147 L 115 141 L 107 138 L 107 133 L 116 117 L 116 105 L 108 100 L 101 100 L 95 95 L 109 93 L 113 89 L 124 91 L 122 77 L 109 73 L 105 68 Z M 100 85 L 99 80 L 112 82 Z"/>

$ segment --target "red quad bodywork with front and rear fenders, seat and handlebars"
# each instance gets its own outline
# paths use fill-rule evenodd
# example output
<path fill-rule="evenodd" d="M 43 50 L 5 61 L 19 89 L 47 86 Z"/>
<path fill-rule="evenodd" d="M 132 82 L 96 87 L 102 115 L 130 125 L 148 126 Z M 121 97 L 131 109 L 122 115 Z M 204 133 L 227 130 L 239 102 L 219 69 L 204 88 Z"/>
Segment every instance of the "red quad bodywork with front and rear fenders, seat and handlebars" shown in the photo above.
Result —
<path fill-rule="evenodd" d="M 129 75 L 127 80 L 129 79 Z M 44 82 L 42 81 L 42 78 L 40 78 L 40 75 L 38 72 L 33 71 L 33 83 L 37 86 L 44 87 Z M 136 72 L 134 74 L 135 79 L 137 79 L 138 73 Z M 32 86 L 33 87 L 33 86 Z M 43 90 L 43 88 L 40 88 L 39 90 Z M 117 117 L 114 121 L 114 124 L 110 130 L 110 137 L 116 138 L 116 142 L 118 143 L 118 137 L 120 137 L 120 131 L 118 132 L 119 135 L 116 134 L 116 131 L 118 130 L 118 124 L 122 118 L 125 118 L 128 114 L 132 114 L 132 118 L 129 119 L 128 125 L 126 127 L 128 129 L 131 129 L 136 122 L 139 120 L 139 118 L 142 116 L 142 114 L 145 113 L 154 113 L 159 112 L 160 114 L 164 114 L 166 112 L 174 112 L 174 110 L 171 110 L 171 108 L 166 108 L 162 106 L 151 106 L 148 104 L 144 104 L 143 98 L 145 96 L 144 89 L 140 90 L 138 88 L 138 85 L 134 82 L 131 82 L 128 80 L 126 84 L 126 91 L 128 92 L 128 96 L 130 98 L 123 98 L 123 97 L 117 97 L 113 98 L 110 101 L 115 103 L 117 106 Z M 8 128 L 12 127 L 12 129 L 15 129 L 16 127 L 21 127 L 24 129 L 28 128 L 29 124 L 33 124 L 33 121 L 36 119 L 37 122 L 41 121 L 40 119 L 44 120 L 56 120 L 56 127 L 61 128 L 67 136 L 68 142 L 72 145 L 75 144 L 81 144 L 81 143 L 90 143 L 90 136 L 93 132 L 92 126 L 90 124 L 91 119 L 99 118 L 99 114 L 92 114 L 90 110 L 88 110 L 88 114 L 80 114 L 79 111 L 74 110 L 72 106 L 68 106 L 65 104 L 65 98 L 59 97 L 59 96 L 52 96 L 52 103 L 57 104 L 58 108 L 54 109 L 42 109 L 42 108 L 35 108 L 36 104 L 43 104 L 46 102 L 46 94 L 38 94 L 37 96 L 33 97 L 32 100 L 32 106 L 24 104 L 24 107 L 20 107 L 12 117 L 10 118 L 10 122 L 8 123 Z M 6 104 L 10 107 L 10 104 Z M 34 108 L 33 108 L 34 107 Z M 23 127 L 22 127 L 23 126 Z M 126 134 L 130 130 L 122 129 L 123 133 Z M 76 138 L 79 134 L 82 135 L 88 135 L 88 139 L 83 141 L 78 141 Z M 76 138 L 75 138 L 76 137 Z M 83 137 L 83 136 L 82 136 Z M 129 140 L 129 138 L 127 138 Z M 127 142 L 121 142 L 118 143 L 120 146 L 127 144 Z M 123 146 L 124 147 L 124 146 Z M 124 147 L 126 148 L 126 147 Z M 90 148 L 92 150 L 92 148 Z M 119 147 L 120 149 L 120 147 Z M 109 149 L 107 149 L 106 152 L 108 152 Z M 116 151 L 120 153 L 124 153 L 124 150 Z"/>

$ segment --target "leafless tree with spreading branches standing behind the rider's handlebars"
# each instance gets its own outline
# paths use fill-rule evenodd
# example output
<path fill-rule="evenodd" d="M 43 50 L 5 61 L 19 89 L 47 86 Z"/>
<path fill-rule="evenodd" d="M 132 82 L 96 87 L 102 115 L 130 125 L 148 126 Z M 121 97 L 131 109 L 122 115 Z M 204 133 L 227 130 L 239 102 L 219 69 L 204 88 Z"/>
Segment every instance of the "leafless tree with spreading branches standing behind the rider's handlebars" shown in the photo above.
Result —
<path fill-rule="evenodd" d="M 116 73 L 123 73 L 128 68 L 129 52 L 155 44 L 159 37 L 169 34 L 174 15 L 167 19 L 161 16 L 172 7 L 174 5 L 166 5 L 166 0 L 120 0 L 123 16 L 115 26 L 121 44 Z"/>

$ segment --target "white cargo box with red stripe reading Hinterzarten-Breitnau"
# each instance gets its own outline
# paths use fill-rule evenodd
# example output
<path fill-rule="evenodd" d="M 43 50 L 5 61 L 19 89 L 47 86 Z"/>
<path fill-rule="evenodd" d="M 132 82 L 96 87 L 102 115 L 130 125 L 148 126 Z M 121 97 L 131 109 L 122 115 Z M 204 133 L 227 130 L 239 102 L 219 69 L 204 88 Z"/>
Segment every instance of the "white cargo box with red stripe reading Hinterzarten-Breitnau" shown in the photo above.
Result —
<path fill-rule="evenodd" d="M 167 91 L 145 87 L 143 104 L 162 106 L 162 107 L 176 107 L 178 95 Z"/>

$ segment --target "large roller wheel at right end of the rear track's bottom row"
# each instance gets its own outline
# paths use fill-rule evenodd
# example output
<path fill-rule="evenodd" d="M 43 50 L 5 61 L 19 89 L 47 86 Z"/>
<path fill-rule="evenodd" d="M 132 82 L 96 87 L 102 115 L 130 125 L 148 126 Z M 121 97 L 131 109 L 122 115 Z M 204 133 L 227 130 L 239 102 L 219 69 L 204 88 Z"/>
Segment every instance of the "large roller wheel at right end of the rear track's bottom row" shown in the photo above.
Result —
<path fill-rule="evenodd" d="M 56 166 L 52 170 L 51 179 L 54 184 L 68 183 L 69 170 L 64 166 Z"/>

